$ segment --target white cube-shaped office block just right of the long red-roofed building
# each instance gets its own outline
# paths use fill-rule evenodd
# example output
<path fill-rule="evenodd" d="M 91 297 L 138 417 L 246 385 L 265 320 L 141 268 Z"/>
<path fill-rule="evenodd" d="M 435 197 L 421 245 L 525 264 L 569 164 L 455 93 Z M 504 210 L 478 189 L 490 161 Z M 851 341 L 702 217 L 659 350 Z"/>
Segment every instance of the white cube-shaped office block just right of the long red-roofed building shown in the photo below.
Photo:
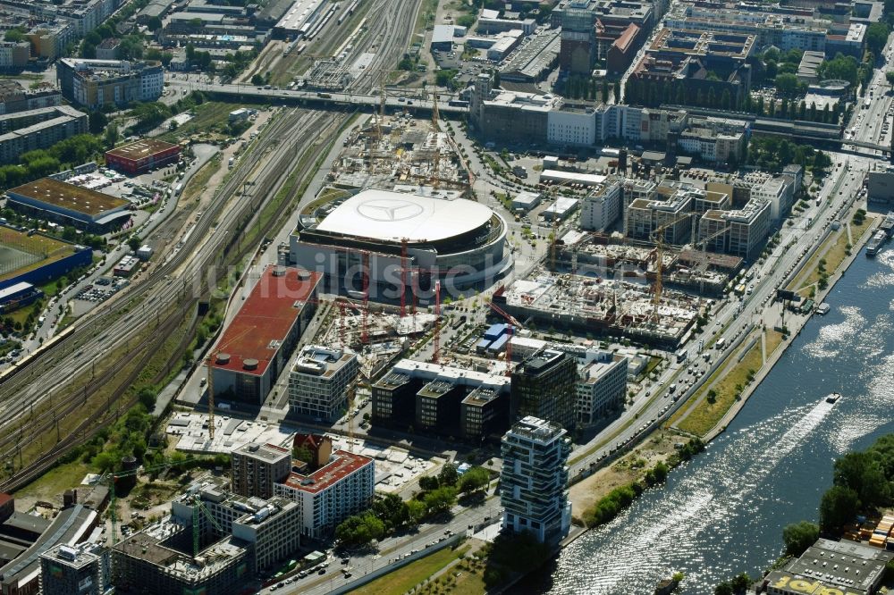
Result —
<path fill-rule="evenodd" d="M 348 391 L 360 365 L 356 354 L 308 345 L 301 349 L 289 374 L 291 413 L 327 422 L 348 410 Z"/>

